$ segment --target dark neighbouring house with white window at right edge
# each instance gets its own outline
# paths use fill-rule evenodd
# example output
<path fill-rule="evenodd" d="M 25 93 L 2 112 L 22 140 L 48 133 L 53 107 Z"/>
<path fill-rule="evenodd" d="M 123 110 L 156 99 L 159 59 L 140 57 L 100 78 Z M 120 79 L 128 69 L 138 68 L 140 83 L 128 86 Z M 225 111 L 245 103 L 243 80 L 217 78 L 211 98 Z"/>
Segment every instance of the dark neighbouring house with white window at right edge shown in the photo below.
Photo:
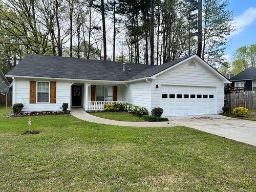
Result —
<path fill-rule="evenodd" d="M 245 91 L 256 91 L 256 68 L 247 68 L 235 76 L 230 76 L 231 87 Z"/>

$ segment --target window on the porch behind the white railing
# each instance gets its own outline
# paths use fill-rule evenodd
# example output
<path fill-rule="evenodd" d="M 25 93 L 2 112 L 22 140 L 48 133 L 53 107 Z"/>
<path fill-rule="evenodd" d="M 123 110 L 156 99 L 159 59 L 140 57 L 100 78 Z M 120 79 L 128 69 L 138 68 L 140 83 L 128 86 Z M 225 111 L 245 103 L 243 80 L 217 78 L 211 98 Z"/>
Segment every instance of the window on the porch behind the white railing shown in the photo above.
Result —
<path fill-rule="evenodd" d="M 113 86 L 96 86 L 96 101 L 113 101 Z"/>

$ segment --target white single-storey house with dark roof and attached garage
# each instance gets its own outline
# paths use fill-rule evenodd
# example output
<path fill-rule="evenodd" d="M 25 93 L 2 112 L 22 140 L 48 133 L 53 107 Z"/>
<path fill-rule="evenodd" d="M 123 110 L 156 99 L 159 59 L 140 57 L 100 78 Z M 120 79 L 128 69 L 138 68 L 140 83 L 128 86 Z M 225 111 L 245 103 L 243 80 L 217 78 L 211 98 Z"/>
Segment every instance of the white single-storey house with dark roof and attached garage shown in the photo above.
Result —
<path fill-rule="evenodd" d="M 24 103 L 24 111 L 59 111 L 62 103 L 95 111 L 129 102 L 161 107 L 163 116 L 222 113 L 230 83 L 196 54 L 160 66 L 28 54 L 6 76 L 13 103 Z"/>

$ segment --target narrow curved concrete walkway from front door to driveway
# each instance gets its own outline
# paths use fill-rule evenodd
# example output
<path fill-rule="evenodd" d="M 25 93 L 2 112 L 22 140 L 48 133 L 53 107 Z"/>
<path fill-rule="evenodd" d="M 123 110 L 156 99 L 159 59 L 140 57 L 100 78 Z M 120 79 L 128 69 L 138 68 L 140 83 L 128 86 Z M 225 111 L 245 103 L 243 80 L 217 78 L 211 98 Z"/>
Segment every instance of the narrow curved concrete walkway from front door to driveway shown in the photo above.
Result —
<path fill-rule="evenodd" d="M 100 117 L 96 117 L 93 115 L 90 115 L 84 109 L 82 108 L 72 108 L 71 109 L 71 115 L 75 116 L 78 119 L 94 122 L 94 123 L 101 123 L 101 124 L 111 124 L 111 125 L 119 125 L 119 126 L 178 126 L 178 124 L 172 123 L 171 121 L 165 121 L 165 122 L 131 122 L 131 121 L 116 121 L 116 120 L 110 120 L 110 119 L 103 119 Z"/>

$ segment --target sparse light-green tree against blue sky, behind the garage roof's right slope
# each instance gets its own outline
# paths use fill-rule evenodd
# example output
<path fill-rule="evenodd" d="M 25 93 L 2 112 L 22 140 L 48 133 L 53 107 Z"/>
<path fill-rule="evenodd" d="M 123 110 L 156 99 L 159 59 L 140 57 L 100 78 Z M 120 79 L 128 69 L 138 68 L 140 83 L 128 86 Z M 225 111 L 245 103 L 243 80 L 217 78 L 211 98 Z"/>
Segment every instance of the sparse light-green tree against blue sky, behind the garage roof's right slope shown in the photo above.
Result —
<path fill-rule="evenodd" d="M 234 30 L 233 12 L 227 6 L 228 0 L 204 1 L 202 58 L 212 67 L 224 62 L 228 36 Z"/>

